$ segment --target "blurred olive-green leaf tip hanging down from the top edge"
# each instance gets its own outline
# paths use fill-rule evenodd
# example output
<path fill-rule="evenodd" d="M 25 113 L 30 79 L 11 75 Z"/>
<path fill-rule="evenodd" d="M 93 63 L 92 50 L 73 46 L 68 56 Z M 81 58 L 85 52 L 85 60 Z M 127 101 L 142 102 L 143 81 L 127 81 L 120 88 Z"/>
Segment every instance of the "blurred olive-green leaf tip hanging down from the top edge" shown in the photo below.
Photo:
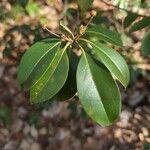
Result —
<path fill-rule="evenodd" d="M 82 13 L 85 13 L 92 5 L 93 0 L 78 0 L 79 7 Z"/>

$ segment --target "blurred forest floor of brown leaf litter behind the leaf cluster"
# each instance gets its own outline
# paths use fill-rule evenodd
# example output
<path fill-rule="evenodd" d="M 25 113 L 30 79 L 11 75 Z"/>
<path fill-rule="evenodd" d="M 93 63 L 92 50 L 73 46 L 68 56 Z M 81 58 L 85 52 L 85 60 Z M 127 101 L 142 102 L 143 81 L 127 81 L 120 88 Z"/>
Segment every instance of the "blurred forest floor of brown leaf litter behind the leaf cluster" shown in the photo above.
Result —
<path fill-rule="evenodd" d="M 0 0 L 0 150 L 150 150 L 150 61 L 141 53 L 141 41 L 150 30 L 128 34 L 123 28 L 127 12 L 118 9 L 148 16 L 149 6 L 149 0 L 95 0 L 91 8 L 97 11 L 95 24 L 121 33 L 121 52 L 131 75 L 128 88 L 120 86 L 120 118 L 101 127 L 86 116 L 77 98 L 31 105 L 29 92 L 17 82 L 23 53 L 50 36 L 44 25 L 53 32 L 59 32 L 60 19 L 75 25 L 76 1 Z"/>

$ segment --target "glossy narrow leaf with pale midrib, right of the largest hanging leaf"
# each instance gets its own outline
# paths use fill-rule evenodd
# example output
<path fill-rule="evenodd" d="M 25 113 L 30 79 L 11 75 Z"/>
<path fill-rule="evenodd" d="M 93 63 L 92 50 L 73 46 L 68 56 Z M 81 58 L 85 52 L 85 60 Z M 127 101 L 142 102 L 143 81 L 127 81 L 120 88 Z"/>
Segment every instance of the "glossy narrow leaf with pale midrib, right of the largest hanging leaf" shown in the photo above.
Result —
<path fill-rule="evenodd" d="M 129 69 L 123 57 L 115 50 L 99 42 L 91 42 L 94 52 L 107 67 L 107 69 L 122 83 L 124 87 L 129 84 Z"/>

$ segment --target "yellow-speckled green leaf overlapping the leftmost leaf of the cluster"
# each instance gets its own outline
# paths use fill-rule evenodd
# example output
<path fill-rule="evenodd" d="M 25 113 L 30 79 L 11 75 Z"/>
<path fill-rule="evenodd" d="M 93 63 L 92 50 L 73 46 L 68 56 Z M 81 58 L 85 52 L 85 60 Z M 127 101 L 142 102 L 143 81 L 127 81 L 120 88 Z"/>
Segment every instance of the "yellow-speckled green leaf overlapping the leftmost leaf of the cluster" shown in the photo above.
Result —
<path fill-rule="evenodd" d="M 53 60 L 44 74 L 37 80 L 30 90 L 31 103 L 38 103 L 52 98 L 63 87 L 69 70 L 69 60 L 66 49 L 58 49 Z"/>

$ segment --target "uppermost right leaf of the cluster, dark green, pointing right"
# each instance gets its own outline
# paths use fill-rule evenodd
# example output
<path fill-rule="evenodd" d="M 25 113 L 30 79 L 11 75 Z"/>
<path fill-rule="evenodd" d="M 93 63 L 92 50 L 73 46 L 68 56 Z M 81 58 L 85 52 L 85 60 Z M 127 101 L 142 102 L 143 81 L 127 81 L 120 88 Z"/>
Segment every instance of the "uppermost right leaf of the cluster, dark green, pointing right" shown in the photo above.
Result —
<path fill-rule="evenodd" d="M 96 36 L 102 41 L 110 42 L 119 47 L 123 46 L 121 37 L 118 33 L 111 31 L 109 29 L 103 28 L 101 26 L 92 26 L 88 28 L 85 32 L 85 35 Z"/>

